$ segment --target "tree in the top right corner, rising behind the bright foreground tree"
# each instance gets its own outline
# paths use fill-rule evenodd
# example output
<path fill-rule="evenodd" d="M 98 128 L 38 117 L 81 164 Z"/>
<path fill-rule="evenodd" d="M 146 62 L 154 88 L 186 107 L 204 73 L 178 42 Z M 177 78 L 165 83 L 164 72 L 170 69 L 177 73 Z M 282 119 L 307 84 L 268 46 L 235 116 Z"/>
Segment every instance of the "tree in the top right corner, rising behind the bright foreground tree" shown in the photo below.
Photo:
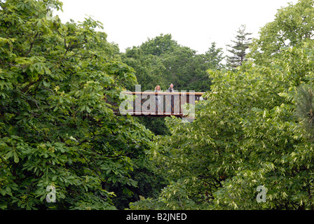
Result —
<path fill-rule="evenodd" d="M 255 64 L 271 63 L 280 57 L 285 48 L 299 46 L 303 43 L 313 43 L 314 1 L 301 0 L 295 5 L 280 8 L 273 22 L 268 22 L 259 31 L 259 38 L 252 42 L 252 48 L 247 58 Z"/>

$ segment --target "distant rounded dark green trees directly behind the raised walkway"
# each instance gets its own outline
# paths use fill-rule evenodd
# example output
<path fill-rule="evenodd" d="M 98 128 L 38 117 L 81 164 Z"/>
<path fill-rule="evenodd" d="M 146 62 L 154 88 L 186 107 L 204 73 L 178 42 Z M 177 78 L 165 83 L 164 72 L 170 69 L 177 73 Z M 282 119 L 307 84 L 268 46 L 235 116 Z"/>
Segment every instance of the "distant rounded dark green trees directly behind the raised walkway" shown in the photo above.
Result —
<path fill-rule="evenodd" d="M 142 90 L 168 89 L 170 83 L 175 90 L 194 90 L 206 92 L 212 85 L 207 69 L 222 69 L 221 48 L 216 43 L 205 54 L 198 55 L 195 50 L 181 46 L 172 40 L 170 34 L 156 36 L 139 47 L 128 48 L 121 58 L 125 64 L 135 69 L 137 81 Z M 128 90 L 134 91 L 134 86 Z M 169 134 L 163 118 L 139 118 L 154 134 Z"/>

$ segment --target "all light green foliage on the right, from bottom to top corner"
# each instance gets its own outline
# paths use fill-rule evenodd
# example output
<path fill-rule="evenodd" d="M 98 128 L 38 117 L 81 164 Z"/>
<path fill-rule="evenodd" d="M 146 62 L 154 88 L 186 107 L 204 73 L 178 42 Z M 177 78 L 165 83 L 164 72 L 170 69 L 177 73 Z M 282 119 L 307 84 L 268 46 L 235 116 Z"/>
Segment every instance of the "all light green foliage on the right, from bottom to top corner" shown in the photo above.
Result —
<path fill-rule="evenodd" d="M 170 184 L 132 209 L 314 209 L 312 10 L 308 0 L 282 8 L 254 41 L 253 62 L 209 71 L 217 93 L 196 104 L 193 123 L 166 119 L 171 135 L 150 151 Z M 284 15 L 296 26 L 282 34 Z"/>

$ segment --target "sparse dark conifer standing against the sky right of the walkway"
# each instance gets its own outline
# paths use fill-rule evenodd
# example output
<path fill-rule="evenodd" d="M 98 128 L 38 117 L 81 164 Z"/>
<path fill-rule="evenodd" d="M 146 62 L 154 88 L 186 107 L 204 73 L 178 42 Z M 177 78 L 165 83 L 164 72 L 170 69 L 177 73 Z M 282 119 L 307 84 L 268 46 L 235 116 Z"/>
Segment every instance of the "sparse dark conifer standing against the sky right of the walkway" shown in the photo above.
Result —
<path fill-rule="evenodd" d="M 245 55 L 247 55 L 247 48 L 251 43 L 252 38 L 248 38 L 247 36 L 251 35 L 252 33 L 247 33 L 245 31 L 246 26 L 241 25 L 237 31 L 237 35 L 235 36 L 235 41 L 232 40 L 234 45 L 227 45 L 231 50 L 231 56 L 227 56 L 227 66 L 230 69 L 235 69 L 236 67 L 243 64 L 245 61 Z"/>

